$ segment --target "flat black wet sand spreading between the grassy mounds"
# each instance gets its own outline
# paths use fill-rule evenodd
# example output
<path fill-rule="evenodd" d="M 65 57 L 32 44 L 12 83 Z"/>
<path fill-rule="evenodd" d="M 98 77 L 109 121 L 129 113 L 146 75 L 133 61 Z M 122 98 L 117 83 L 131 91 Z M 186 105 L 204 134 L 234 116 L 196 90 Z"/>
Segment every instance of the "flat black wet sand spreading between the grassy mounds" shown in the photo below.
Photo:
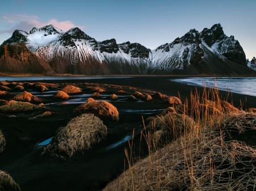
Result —
<path fill-rule="evenodd" d="M 99 86 L 107 87 L 107 91 L 102 94 L 116 94 L 119 87 L 127 92 L 126 95 L 134 91 L 154 94 L 160 92 L 168 96 L 177 96 L 184 102 L 190 99 L 191 91 L 203 92 L 201 87 L 188 86 L 168 79 L 172 77 L 135 77 L 121 79 L 90 79 L 90 80 L 44 80 L 45 83 L 72 83 L 82 86 L 83 83 L 96 83 Z M 176 77 L 175 77 L 176 78 Z M 35 81 L 33 81 L 35 82 Z M 41 81 L 42 82 L 42 81 Z M 117 85 L 108 87 L 106 84 Z M 134 87 L 134 88 L 127 88 Z M 25 89 L 26 90 L 26 89 Z M 27 91 L 27 90 L 26 90 Z M 31 90 L 34 92 L 34 90 Z M 18 94 L 18 90 L 10 91 L 11 94 Z M 30 92 L 30 91 L 28 91 Z M 38 95 L 49 95 L 49 93 L 38 93 Z M 53 94 L 53 93 L 51 93 Z M 92 91 L 83 91 L 82 94 L 92 94 Z M 222 97 L 226 97 L 225 91 L 220 91 Z M 13 96 L 0 96 L 0 99 L 10 100 Z M 72 99 L 79 98 L 79 94 L 73 95 Z M 43 98 L 43 97 L 40 97 Z M 105 100 L 106 98 L 102 99 Z M 229 101 L 233 99 L 234 106 L 240 107 L 243 103 L 245 107 L 256 107 L 255 97 L 239 94 L 229 95 Z M 241 101 L 240 101 L 241 100 Z M 45 97 L 43 103 L 49 104 L 45 111 L 57 114 L 49 117 L 28 120 L 29 114 L 20 114 L 18 117 L 9 117 L 10 113 L 0 113 L 1 130 L 6 137 L 6 150 L 0 154 L 0 169 L 10 173 L 13 179 L 19 184 L 22 190 L 101 190 L 104 186 L 124 169 L 125 152 L 129 148 L 127 142 L 105 151 L 104 148 L 118 141 L 127 135 L 131 135 L 133 129 L 138 133 L 143 129 L 142 116 L 147 118 L 155 113 L 141 114 L 139 112 L 127 112 L 127 109 L 152 110 L 168 108 L 170 105 L 165 101 L 153 102 L 131 102 L 112 101 L 112 104 L 119 111 L 118 122 L 112 122 L 106 118 L 101 118 L 108 127 L 108 136 L 104 141 L 92 149 L 84 152 L 77 152 L 72 158 L 64 155 L 60 156 L 41 155 L 43 148 L 34 149 L 38 141 L 44 137 L 55 134 L 61 126 L 67 125 L 73 117 L 79 115 L 73 113 L 81 103 L 77 104 L 56 104 L 61 100 L 52 100 Z M 11 113 L 14 114 L 15 113 Z M 22 141 L 20 138 L 27 137 L 30 141 Z M 140 136 L 134 138 L 133 150 L 135 155 L 139 155 L 141 145 L 141 156 L 146 156 L 143 149 L 146 143 L 140 142 Z M 126 163 L 127 164 L 127 163 Z"/>

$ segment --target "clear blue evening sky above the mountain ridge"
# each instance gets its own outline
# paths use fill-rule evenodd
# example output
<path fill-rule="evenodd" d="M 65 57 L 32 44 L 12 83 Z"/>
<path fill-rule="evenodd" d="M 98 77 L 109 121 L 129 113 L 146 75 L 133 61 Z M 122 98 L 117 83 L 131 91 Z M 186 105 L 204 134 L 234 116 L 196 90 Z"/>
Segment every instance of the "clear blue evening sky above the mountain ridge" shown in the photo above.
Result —
<path fill-rule="evenodd" d="M 15 29 L 29 32 L 48 24 L 67 31 L 79 27 L 98 41 L 130 41 L 155 49 L 220 23 L 246 58 L 256 56 L 255 0 L 6 0 L 0 6 L 0 44 Z"/>

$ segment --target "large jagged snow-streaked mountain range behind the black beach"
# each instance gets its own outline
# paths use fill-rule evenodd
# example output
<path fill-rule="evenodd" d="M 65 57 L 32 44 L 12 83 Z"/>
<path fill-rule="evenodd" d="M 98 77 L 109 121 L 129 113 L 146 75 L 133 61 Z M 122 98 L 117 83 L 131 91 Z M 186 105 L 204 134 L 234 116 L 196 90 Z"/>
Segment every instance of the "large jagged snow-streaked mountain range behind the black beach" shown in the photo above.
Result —
<path fill-rule="evenodd" d="M 220 24 L 201 32 L 191 29 L 154 50 L 129 41 L 122 44 L 117 44 L 115 39 L 97 41 L 79 28 L 63 32 L 49 25 L 34 27 L 29 33 L 16 30 L 0 46 L 0 71 L 20 72 L 11 63 L 14 61 L 22 66 L 22 72 L 26 68 L 31 72 L 29 67 L 36 65 L 38 73 L 251 73 L 241 45 L 233 36 L 226 36 Z"/>

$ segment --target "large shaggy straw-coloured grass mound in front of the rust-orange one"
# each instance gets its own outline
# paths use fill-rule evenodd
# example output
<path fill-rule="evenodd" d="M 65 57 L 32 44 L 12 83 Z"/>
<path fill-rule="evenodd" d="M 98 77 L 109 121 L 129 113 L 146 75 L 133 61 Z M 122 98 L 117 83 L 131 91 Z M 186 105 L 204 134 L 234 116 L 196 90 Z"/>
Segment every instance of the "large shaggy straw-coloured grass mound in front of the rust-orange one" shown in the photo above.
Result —
<path fill-rule="evenodd" d="M 107 128 L 100 118 L 86 113 L 73 118 L 57 131 L 46 152 L 65 152 L 72 156 L 77 151 L 89 149 L 106 137 Z"/>

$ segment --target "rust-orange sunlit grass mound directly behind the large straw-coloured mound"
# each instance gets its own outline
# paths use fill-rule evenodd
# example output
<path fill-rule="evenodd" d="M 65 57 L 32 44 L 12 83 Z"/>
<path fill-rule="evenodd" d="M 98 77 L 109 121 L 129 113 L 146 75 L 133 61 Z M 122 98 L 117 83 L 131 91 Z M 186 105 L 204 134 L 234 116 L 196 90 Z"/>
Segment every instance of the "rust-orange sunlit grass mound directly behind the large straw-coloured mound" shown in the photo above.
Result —
<path fill-rule="evenodd" d="M 119 120 L 119 113 L 114 105 L 107 101 L 93 101 L 80 105 L 75 109 L 79 113 L 93 113 L 96 116 L 106 117 L 112 121 Z"/>

